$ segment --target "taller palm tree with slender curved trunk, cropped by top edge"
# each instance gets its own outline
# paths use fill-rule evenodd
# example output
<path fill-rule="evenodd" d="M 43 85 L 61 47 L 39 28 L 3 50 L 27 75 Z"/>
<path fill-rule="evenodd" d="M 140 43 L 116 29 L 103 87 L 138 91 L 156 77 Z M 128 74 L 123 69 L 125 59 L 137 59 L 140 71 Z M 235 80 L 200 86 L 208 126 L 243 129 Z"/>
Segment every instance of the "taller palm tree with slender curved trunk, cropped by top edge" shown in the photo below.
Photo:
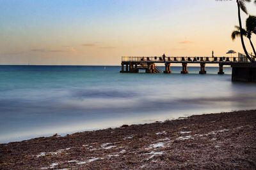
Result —
<path fill-rule="evenodd" d="M 246 2 L 250 2 L 251 0 L 236 0 L 236 3 L 237 3 L 237 9 L 238 9 L 238 20 L 239 20 L 239 29 L 240 29 L 240 32 L 243 32 L 243 27 L 242 27 L 242 22 L 241 22 L 241 12 L 240 12 L 240 9 L 242 11 L 244 11 L 244 13 L 248 14 L 247 13 L 247 9 L 246 9 L 246 6 L 244 4 L 244 1 Z M 250 62 L 253 62 L 252 58 L 249 56 L 247 50 L 246 50 L 246 47 L 244 45 L 244 38 L 243 36 L 240 36 L 241 38 L 241 43 L 242 43 L 242 46 L 243 46 L 243 49 L 244 49 L 244 53 L 246 55 L 246 57 L 250 60 Z"/>

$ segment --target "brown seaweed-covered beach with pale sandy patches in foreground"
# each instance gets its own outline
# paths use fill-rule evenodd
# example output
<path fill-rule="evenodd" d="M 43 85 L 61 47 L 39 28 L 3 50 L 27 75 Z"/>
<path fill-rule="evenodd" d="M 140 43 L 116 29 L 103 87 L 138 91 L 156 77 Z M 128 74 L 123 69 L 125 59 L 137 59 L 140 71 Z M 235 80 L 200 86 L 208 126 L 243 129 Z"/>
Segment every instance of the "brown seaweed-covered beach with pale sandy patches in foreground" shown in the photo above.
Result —
<path fill-rule="evenodd" d="M 255 169 L 256 110 L 0 145 L 0 169 Z"/>

